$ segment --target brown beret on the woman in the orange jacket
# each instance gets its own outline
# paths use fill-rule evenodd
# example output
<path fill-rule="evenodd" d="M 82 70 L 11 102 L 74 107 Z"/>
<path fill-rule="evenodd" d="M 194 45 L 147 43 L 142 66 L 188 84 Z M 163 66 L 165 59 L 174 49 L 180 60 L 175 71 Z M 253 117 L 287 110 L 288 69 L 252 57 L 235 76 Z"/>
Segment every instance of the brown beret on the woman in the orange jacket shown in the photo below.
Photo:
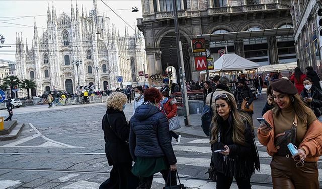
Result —
<path fill-rule="evenodd" d="M 294 84 L 284 78 L 273 80 L 271 86 L 273 91 L 276 91 L 279 93 L 284 93 L 289 95 L 295 95 L 298 93 Z"/>

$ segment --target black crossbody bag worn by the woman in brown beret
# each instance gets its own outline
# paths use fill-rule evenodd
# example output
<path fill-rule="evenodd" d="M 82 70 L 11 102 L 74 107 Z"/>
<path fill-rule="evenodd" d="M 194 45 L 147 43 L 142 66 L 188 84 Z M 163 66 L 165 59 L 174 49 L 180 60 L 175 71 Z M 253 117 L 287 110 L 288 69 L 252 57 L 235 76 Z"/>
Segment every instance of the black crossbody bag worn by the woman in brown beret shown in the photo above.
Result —
<path fill-rule="evenodd" d="M 277 149 L 277 155 L 279 156 L 286 156 L 290 154 L 290 151 L 287 147 L 289 143 L 295 145 L 296 142 L 296 127 L 297 127 L 297 117 L 295 115 L 293 125 L 291 129 L 284 131 L 283 133 L 277 134 L 275 136 L 275 147 Z"/>

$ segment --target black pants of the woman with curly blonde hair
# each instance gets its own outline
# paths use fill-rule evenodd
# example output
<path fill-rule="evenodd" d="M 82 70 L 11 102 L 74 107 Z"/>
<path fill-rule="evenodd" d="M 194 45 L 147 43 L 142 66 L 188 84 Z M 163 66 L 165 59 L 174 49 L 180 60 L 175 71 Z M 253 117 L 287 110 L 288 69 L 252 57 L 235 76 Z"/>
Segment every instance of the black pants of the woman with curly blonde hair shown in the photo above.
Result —
<path fill-rule="evenodd" d="M 110 178 L 103 182 L 99 189 L 135 189 L 139 178 L 131 172 L 132 164 L 113 165 Z"/>

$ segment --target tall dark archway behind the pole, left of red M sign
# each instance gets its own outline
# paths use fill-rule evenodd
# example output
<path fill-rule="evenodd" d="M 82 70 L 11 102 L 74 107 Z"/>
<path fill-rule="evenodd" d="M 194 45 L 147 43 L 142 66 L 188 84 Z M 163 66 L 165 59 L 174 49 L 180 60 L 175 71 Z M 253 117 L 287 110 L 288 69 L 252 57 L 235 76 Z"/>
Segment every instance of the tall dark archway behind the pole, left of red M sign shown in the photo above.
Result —
<path fill-rule="evenodd" d="M 186 81 L 191 80 L 191 68 L 190 68 L 190 55 L 189 55 L 189 46 L 190 42 L 186 40 L 185 37 L 180 37 L 182 44 L 182 53 L 185 65 L 185 75 Z M 175 70 L 179 70 L 178 68 L 178 58 L 177 58 L 177 44 L 176 44 L 176 34 L 175 32 L 170 32 L 166 34 L 160 42 L 160 51 L 161 53 L 161 64 L 163 74 L 165 74 L 166 68 L 168 66 L 173 66 Z M 179 77 L 179 72 L 176 73 L 176 78 Z M 179 81 L 179 80 L 178 80 Z"/>

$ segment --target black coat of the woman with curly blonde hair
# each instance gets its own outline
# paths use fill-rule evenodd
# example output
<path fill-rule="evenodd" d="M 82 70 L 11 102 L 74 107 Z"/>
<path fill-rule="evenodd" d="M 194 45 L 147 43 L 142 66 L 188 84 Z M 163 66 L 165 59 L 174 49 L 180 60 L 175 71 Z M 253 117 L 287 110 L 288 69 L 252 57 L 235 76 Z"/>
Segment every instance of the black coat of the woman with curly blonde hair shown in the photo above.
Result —
<path fill-rule="evenodd" d="M 132 162 L 129 145 L 130 127 L 123 111 L 107 109 L 102 120 L 105 154 L 109 165 Z"/>

